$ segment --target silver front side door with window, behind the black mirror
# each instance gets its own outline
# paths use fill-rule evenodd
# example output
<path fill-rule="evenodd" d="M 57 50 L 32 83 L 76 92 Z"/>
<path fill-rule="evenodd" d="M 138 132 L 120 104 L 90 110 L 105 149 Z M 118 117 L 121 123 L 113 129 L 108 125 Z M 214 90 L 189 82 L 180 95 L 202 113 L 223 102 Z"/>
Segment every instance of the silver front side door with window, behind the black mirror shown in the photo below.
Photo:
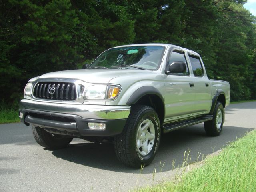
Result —
<path fill-rule="evenodd" d="M 190 75 L 185 53 L 182 50 L 174 49 L 168 56 L 167 64 L 174 61 L 183 61 L 187 64 L 185 73 L 171 73 L 165 75 L 165 122 L 191 116 L 194 112 L 195 92 L 190 84 L 193 76 Z"/>

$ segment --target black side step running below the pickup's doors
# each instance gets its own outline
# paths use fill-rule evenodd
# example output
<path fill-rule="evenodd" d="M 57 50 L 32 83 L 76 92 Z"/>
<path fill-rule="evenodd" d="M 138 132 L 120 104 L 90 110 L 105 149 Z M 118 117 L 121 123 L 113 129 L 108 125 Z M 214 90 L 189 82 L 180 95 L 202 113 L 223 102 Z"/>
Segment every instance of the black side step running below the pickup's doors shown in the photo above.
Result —
<path fill-rule="evenodd" d="M 196 118 L 196 119 L 192 119 L 192 120 L 186 120 L 186 121 L 182 121 L 182 122 L 174 122 L 172 124 L 166 124 L 164 125 L 164 133 L 170 132 L 170 131 L 174 131 L 183 127 L 187 127 L 190 125 L 194 125 L 194 124 L 198 124 L 198 123 L 202 123 L 205 121 L 210 121 L 213 119 L 212 115 L 206 115 L 206 116 L 202 116 L 200 118 Z"/>

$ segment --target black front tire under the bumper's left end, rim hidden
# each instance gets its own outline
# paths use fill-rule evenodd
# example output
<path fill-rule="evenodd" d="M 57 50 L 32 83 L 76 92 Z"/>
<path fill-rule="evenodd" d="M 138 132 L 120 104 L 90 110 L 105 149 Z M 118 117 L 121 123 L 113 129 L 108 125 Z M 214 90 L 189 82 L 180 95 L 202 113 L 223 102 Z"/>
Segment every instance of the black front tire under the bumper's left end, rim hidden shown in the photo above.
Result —
<path fill-rule="evenodd" d="M 36 142 L 47 149 L 65 148 L 73 140 L 73 138 L 70 137 L 51 134 L 43 128 L 36 126 L 32 126 L 32 132 Z"/>

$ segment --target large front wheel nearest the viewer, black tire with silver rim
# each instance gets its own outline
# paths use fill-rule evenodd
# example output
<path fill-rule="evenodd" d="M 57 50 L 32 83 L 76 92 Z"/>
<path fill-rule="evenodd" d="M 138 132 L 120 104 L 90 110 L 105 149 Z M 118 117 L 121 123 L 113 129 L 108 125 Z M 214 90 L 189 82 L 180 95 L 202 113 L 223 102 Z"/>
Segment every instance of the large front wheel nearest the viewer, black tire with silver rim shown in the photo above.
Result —
<path fill-rule="evenodd" d="M 132 106 L 124 130 L 114 138 L 116 155 L 126 166 L 147 166 L 156 155 L 160 136 L 160 121 L 156 111 L 150 106 Z"/>

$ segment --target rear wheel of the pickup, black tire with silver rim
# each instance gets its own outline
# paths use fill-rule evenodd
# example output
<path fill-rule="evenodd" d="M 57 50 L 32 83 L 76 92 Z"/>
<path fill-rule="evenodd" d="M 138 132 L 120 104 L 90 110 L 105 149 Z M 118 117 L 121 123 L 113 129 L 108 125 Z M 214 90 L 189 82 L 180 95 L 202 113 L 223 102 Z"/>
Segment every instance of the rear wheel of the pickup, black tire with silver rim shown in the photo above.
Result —
<path fill-rule="evenodd" d="M 208 136 L 219 136 L 223 129 L 224 123 L 224 107 L 221 102 L 217 102 L 214 112 L 213 119 L 204 122 L 204 130 Z"/>

